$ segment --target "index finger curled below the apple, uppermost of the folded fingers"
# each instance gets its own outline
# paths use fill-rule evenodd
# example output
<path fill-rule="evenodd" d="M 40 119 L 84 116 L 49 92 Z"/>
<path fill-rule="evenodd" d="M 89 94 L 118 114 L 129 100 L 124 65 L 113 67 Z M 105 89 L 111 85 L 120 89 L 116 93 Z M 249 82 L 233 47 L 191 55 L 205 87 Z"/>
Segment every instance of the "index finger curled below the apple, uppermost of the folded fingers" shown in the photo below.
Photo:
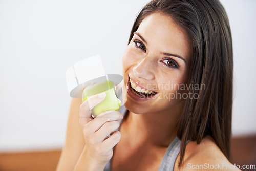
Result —
<path fill-rule="evenodd" d="M 106 114 L 99 114 L 95 119 L 93 119 L 90 123 L 88 123 L 88 126 L 90 127 L 90 130 L 92 132 L 96 132 L 100 129 L 100 127 L 109 121 L 115 121 L 115 120 L 121 120 L 122 114 L 119 111 L 111 111 Z"/>

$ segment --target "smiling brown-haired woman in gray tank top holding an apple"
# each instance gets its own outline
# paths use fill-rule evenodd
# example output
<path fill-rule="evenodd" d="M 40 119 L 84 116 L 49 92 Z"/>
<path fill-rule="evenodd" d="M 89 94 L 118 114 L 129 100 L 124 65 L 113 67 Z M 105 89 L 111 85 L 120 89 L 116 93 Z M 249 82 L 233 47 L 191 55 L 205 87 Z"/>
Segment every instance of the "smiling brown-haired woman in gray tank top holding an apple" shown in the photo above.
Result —
<path fill-rule="evenodd" d="M 218 0 L 148 3 L 122 65 L 125 110 L 93 119 L 105 94 L 73 99 L 57 170 L 237 169 L 228 160 L 232 40 Z"/>

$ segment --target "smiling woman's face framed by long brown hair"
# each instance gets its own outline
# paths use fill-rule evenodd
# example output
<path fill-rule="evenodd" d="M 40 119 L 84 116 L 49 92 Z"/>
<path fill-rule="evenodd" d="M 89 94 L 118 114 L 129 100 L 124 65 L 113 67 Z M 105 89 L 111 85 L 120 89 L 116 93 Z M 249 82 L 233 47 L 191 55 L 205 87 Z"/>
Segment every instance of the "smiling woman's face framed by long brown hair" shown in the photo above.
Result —
<path fill-rule="evenodd" d="M 154 13 L 144 18 L 122 58 L 125 107 L 142 114 L 182 104 L 176 94 L 188 79 L 189 47 L 172 17 Z"/>

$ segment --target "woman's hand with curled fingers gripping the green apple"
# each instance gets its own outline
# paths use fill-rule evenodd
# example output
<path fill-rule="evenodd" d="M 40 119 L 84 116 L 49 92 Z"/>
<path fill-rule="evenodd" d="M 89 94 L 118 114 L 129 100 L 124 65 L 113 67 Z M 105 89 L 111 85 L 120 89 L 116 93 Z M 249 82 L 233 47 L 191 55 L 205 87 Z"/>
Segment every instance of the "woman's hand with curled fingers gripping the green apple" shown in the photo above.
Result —
<path fill-rule="evenodd" d="M 113 147 L 120 141 L 118 129 L 122 115 L 119 111 L 106 111 L 96 118 L 91 110 L 105 99 L 106 94 L 94 95 L 80 105 L 80 125 L 82 126 L 86 146 L 84 154 L 93 163 L 106 164 L 113 156 Z M 110 137 L 108 135 L 111 134 Z"/>

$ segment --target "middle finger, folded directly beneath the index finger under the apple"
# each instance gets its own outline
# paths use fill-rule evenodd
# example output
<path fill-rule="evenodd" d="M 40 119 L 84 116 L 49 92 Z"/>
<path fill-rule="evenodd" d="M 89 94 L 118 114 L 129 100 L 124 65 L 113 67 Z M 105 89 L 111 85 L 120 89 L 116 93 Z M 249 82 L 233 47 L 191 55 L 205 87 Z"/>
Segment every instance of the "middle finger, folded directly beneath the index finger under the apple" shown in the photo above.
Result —
<path fill-rule="evenodd" d="M 109 121 L 104 123 L 98 131 L 96 131 L 95 136 L 98 137 L 98 143 L 103 142 L 105 137 L 111 132 L 118 129 L 120 123 L 118 121 Z"/>

